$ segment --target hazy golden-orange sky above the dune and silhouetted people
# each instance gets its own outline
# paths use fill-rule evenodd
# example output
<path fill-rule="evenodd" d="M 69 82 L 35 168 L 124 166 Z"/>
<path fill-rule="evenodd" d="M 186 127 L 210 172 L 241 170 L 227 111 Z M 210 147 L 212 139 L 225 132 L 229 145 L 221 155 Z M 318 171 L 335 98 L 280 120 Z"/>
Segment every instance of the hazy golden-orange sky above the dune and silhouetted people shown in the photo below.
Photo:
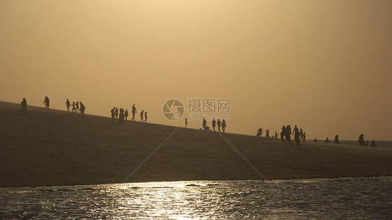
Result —
<path fill-rule="evenodd" d="M 223 99 L 230 111 L 214 115 L 231 133 L 392 141 L 391 21 L 389 0 L 0 0 L 0 100 L 68 98 L 107 117 L 135 103 L 184 126 L 188 100 Z M 163 115 L 173 98 L 177 121 Z"/>

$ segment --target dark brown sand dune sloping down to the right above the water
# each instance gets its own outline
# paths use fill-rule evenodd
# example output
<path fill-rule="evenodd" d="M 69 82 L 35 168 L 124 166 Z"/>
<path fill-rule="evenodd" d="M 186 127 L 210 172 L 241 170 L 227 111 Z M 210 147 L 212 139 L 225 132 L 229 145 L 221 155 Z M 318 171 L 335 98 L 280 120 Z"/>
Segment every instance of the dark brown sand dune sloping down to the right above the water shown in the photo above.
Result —
<path fill-rule="evenodd" d="M 298 150 L 276 139 L 118 125 L 40 107 L 22 116 L 20 105 L 8 102 L 0 102 L 0 126 L 0 187 L 392 175 L 391 148 L 306 141 Z"/>

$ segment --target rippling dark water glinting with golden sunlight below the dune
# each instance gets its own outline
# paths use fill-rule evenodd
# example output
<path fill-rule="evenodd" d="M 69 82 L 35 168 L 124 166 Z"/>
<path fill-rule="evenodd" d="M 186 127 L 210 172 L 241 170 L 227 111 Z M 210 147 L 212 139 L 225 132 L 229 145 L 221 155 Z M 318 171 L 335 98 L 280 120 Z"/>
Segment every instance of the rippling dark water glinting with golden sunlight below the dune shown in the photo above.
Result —
<path fill-rule="evenodd" d="M 0 189 L 0 219 L 392 219 L 392 177 Z"/>

